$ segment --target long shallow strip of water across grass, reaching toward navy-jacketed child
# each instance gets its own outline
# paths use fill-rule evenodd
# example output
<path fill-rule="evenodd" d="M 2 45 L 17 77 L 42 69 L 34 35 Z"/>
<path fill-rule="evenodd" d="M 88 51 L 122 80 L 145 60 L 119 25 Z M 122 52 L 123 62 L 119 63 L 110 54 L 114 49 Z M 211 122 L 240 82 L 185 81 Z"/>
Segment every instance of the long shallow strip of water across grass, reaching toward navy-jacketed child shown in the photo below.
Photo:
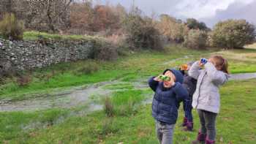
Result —
<path fill-rule="evenodd" d="M 88 111 L 102 110 L 102 105 L 94 102 L 103 96 L 110 95 L 113 91 L 125 91 L 126 88 L 110 88 L 110 86 L 131 85 L 135 89 L 148 88 L 146 80 L 138 80 L 133 83 L 121 82 L 118 80 L 95 83 L 91 86 L 80 86 L 59 92 L 59 94 L 49 94 L 48 96 L 37 96 L 37 98 L 26 99 L 17 102 L 0 101 L 1 111 L 33 111 L 50 108 L 71 108 L 79 105 L 89 105 Z M 97 101 L 96 100 L 96 101 Z"/>

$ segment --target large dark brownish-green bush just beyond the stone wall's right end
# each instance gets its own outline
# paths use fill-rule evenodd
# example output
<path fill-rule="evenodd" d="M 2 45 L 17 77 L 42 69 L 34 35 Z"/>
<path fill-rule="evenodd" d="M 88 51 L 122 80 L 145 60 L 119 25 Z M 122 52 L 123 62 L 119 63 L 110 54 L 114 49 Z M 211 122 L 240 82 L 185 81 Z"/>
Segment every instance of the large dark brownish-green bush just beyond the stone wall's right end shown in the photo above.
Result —
<path fill-rule="evenodd" d="M 125 18 L 123 28 L 129 48 L 162 49 L 161 36 L 151 18 L 142 18 L 140 14 L 131 12 Z"/>

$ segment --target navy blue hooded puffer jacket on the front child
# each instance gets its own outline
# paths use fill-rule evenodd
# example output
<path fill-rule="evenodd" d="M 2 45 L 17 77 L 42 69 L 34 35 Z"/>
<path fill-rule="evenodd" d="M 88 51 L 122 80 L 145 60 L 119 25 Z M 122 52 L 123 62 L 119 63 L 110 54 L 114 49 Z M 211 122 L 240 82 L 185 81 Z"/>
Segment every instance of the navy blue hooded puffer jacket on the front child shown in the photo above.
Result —
<path fill-rule="evenodd" d="M 181 85 L 181 83 L 183 83 L 183 75 L 181 72 L 176 69 L 166 69 L 165 72 L 167 70 L 170 70 L 176 76 L 176 84 L 171 88 L 165 88 L 163 83 L 155 81 L 154 77 L 148 80 L 148 85 L 155 91 L 152 102 L 152 116 L 157 121 L 167 124 L 176 124 L 179 103 L 187 99 L 188 93 Z"/>

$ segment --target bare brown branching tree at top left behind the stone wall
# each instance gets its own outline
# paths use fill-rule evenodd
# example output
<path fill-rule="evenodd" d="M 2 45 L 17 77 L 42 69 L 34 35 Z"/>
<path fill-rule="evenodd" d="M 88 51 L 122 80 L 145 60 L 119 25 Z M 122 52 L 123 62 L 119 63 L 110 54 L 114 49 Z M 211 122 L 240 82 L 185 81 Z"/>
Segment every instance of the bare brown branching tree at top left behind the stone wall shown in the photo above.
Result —
<path fill-rule="evenodd" d="M 74 0 L 1 0 L 0 14 L 15 13 L 17 18 L 25 20 L 27 29 L 59 31 L 69 24 L 70 4 Z"/>

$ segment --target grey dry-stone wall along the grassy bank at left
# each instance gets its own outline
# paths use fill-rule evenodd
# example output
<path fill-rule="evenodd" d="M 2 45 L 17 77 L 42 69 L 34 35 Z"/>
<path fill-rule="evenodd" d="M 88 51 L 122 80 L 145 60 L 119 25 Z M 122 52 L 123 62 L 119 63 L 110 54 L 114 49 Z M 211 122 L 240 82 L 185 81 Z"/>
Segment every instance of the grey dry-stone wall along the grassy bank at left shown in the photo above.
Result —
<path fill-rule="evenodd" d="M 90 40 L 48 40 L 12 42 L 0 39 L 0 72 L 45 67 L 91 56 L 95 42 Z"/>

